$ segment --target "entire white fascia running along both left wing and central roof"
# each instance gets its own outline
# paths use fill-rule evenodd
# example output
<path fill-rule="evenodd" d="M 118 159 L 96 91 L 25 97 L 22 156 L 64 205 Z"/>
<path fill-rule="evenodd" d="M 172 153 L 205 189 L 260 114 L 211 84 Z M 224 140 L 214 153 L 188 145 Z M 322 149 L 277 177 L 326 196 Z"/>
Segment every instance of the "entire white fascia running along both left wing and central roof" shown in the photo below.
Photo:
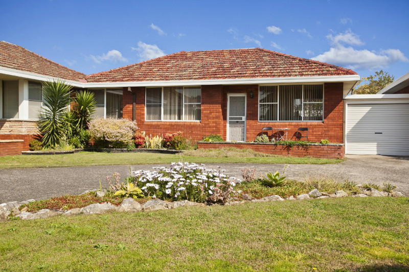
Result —
<path fill-rule="evenodd" d="M 0 74 L 25 79 L 50 81 L 58 78 L 39 75 L 16 69 L 0 67 Z M 358 75 L 349 76 L 314 76 L 290 78 L 255 78 L 255 79 L 221 79 L 221 80 L 171 80 L 171 81 L 139 81 L 139 82 L 90 82 L 82 83 L 64 80 L 65 83 L 78 88 L 118 88 L 118 87 L 161 87 L 161 86 L 197 86 L 197 85 L 244 85 L 244 84 L 282 84 L 282 83 L 325 83 L 325 82 L 356 82 Z"/>

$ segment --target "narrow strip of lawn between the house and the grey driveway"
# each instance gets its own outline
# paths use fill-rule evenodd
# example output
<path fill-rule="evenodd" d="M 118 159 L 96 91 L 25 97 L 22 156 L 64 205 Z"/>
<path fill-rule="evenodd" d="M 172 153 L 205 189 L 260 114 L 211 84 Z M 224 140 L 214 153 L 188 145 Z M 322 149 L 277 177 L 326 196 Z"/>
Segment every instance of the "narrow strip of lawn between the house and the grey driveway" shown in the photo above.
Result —
<path fill-rule="evenodd" d="M 195 155 L 195 153 L 191 153 Z M 97 153 L 79 152 L 59 155 L 20 155 L 0 157 L 0 168 L 27 167 L 63 167 L 92 165 L 135 165 L 135 164 L 169 164 L 188 161 L 195 163 L 270 163 L 270 164 L 330 164 L 344 160 L 296 158 L 296 157 L 243 157 L 239 152 L 230 157 L 185 156 L 183 154 L 157 153 Z"/>

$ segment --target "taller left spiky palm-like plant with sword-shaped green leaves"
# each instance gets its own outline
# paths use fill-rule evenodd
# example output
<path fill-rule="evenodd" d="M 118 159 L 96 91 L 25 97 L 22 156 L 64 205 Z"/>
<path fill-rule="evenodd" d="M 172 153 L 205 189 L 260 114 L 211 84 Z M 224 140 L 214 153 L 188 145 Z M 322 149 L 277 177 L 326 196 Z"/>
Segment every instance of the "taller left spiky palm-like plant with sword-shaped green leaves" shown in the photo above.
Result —
<path fill-rule="evenodd" d="M 38 128 L 44 134 L 43 147 L 56 148 L 67 132 L 64 114 L 70 105 L 71 88 L 61 80 L 46 82 L 42 87 L 43 108 Z"/>

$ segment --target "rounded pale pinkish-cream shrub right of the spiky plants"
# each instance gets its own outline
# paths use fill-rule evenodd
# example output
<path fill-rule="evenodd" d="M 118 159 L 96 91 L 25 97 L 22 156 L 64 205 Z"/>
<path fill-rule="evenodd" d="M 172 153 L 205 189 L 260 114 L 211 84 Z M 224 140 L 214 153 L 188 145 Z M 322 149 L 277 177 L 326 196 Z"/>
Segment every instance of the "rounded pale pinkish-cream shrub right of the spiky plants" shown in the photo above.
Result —
<path fill-rule="evenodd" d="M 133 143 L 137 123 L 129 119 L 95 119 L 89 123 L 89 135 L 98 147 L 125 148 Z"/>

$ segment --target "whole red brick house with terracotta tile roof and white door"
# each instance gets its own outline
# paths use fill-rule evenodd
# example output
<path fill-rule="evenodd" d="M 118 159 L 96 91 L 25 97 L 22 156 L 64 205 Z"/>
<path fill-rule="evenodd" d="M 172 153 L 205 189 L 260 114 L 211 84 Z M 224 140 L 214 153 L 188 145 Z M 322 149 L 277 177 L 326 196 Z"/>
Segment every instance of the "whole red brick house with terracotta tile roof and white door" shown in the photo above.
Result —
<path fill-rule="evenodd" d="M 41 82 L 63 79 L 95 94 L 96 116 L 129 118 L 148 135 L 252 141 L 263 127 L 309 128 L 309 140 L 344 142 L 344 97 L 356 72 L 263 48 L 179 52 L 84 75 L 0 42 L 0 140 L 37 133 Z"/>

